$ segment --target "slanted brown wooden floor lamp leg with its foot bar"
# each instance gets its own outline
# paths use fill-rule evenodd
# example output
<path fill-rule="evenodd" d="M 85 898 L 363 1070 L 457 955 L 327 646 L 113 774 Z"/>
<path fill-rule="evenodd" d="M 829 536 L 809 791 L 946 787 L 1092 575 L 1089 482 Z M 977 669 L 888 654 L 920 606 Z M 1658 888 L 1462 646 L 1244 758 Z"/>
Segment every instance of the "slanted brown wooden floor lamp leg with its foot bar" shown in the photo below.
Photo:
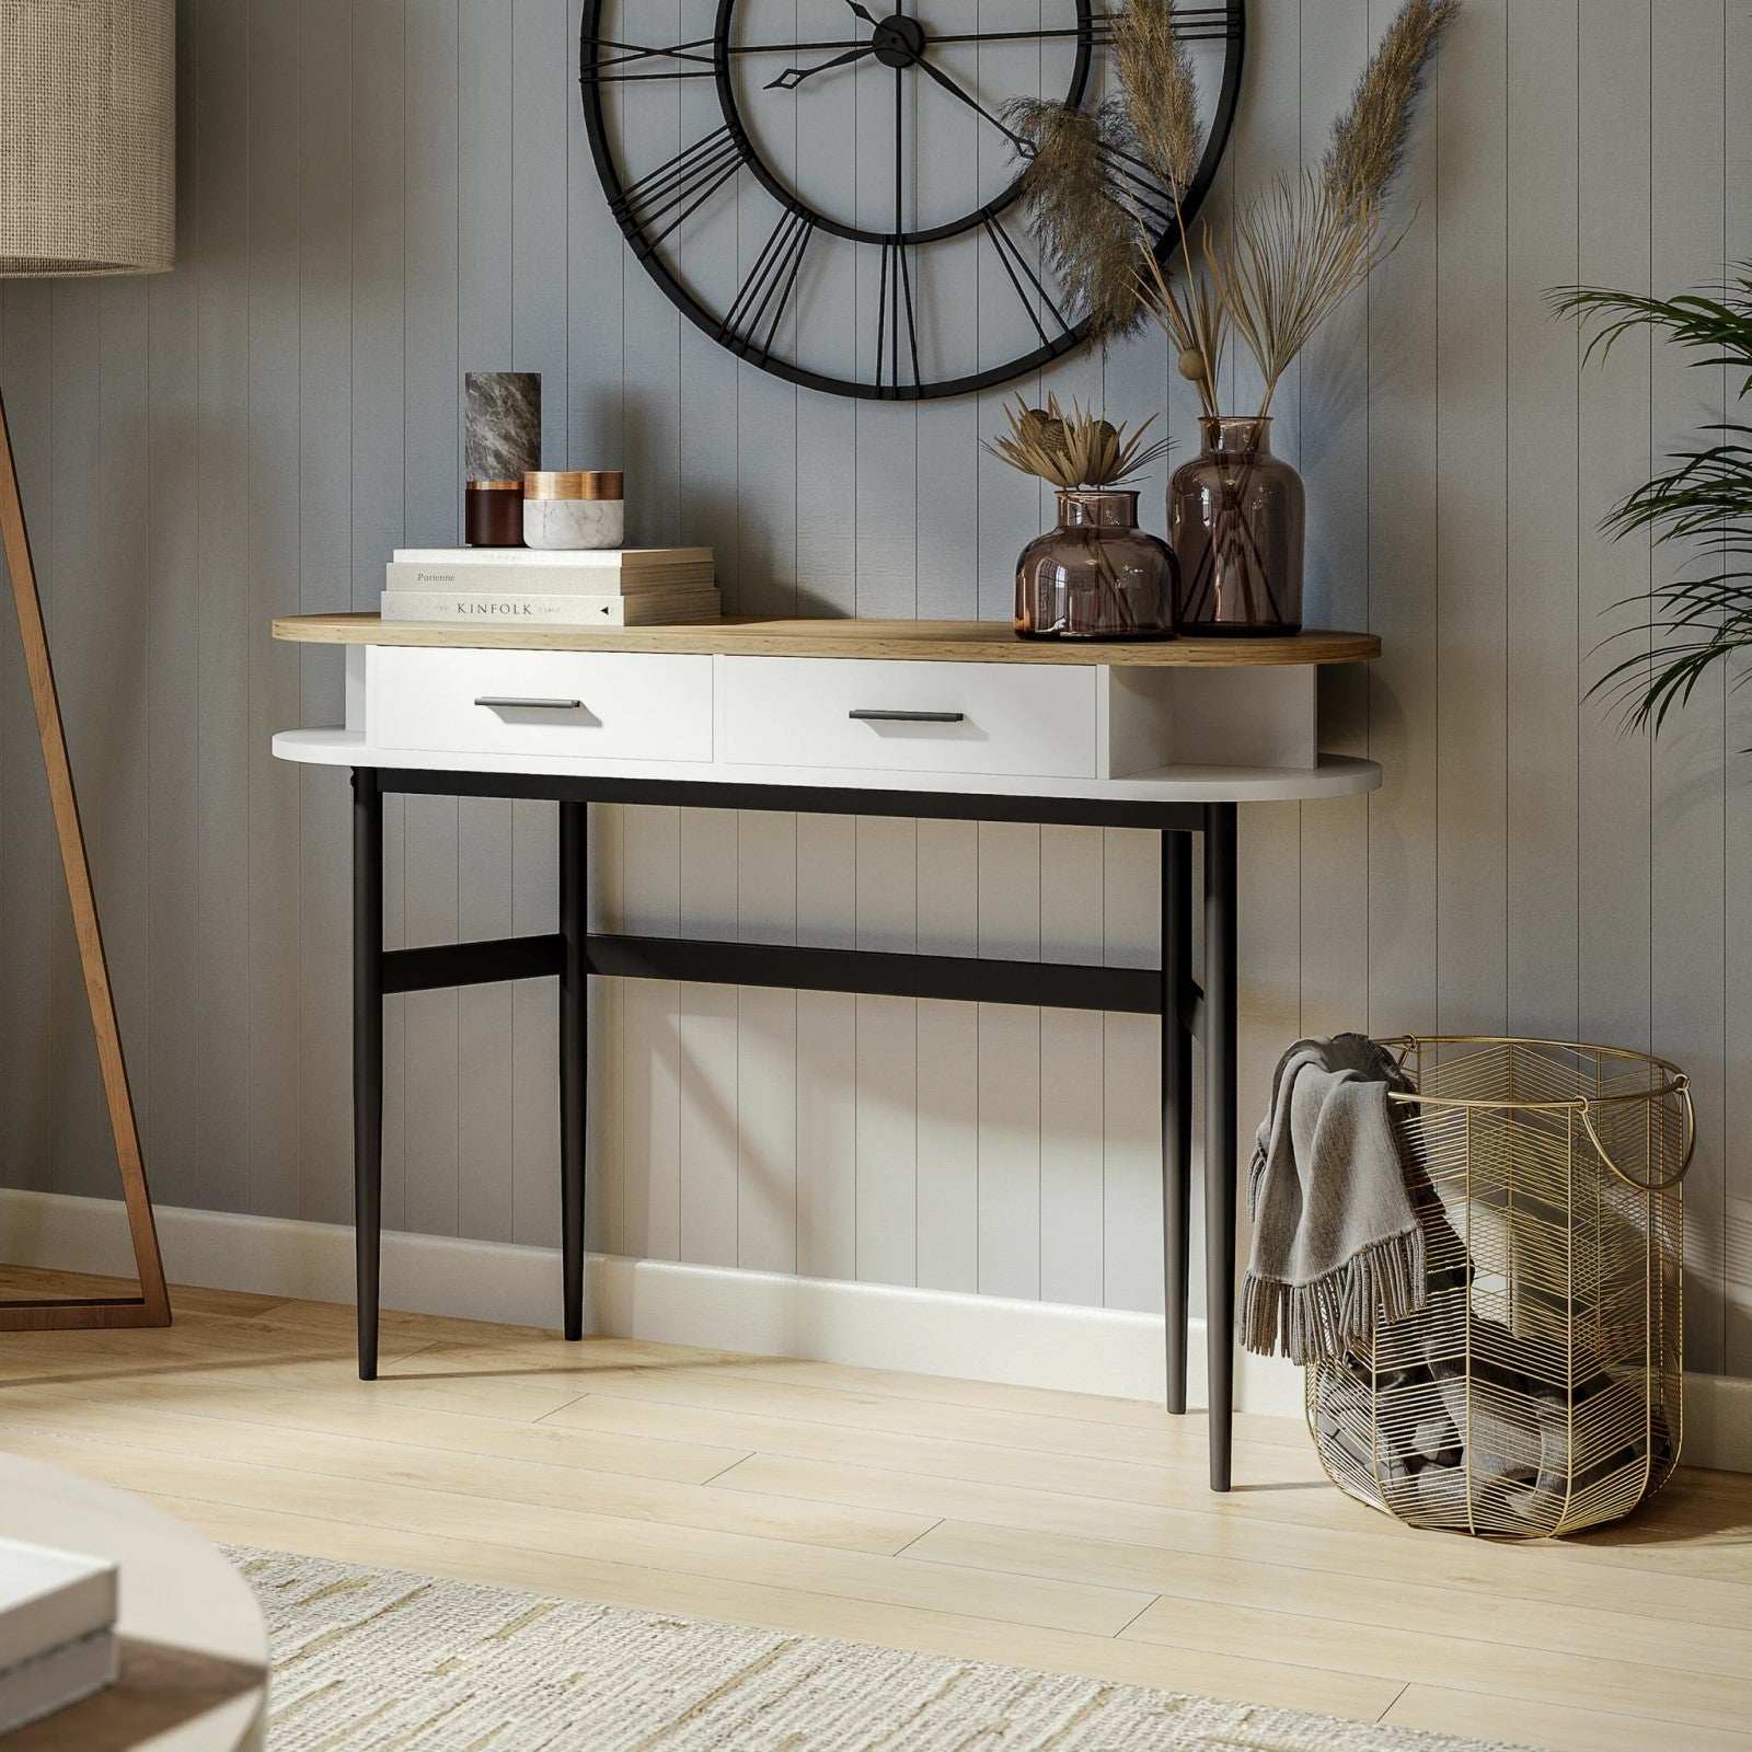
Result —
<path fill-rule="evenodd" d="M 18 606 L 18 631 L 25 645 L 25 671 L 30 697 L 37 708 L 37 734 L 42 739 L 42 764 L 49 774 L 49 802 L 54 808 L 54 836 L 61 844 L 61 869 L 67 872 L 67 897 L 74 908 L 74 936 L 79 964 L 86 976 L 86 1002 L 98 1042 L 98 1067 L 103 1072 L 103 1099 L 109 1104 L 110 1134 L 116 1139 L 116 1165 L 121 1169 L 121 1195 L 128 1207 L 133 1235 L 133 1263 L 140 1277 L 140 1295 L 109 1296 L 88 1302 L 0 1302 L 0 1332 L 51 1332 L 72 1326 L 168 1326 L 170 1296 L 165 1293 L 165 1265 L 158 1253 L 158 1226 L 152 1198 L 140 1160 L 140 1134 L 128 1093 L 128 1067 L 121 1055 L 116 1027 L 116 1002 L 110 995 L 109 965 L 103 960 L 103 932 L 98 927 L 96 897 L 91 892 L 91 867 L 86 862 L 86 836 L 79 825 L 79 799 L 74 773 L 67 762 L 67 738 L 61 734 L 61 704 L 54 692 L 49 641 L 37 597 L 37 569 L 30 559 L 30 534 L 25 529 L 25 505 L 18 492 L 18 468 L 12 461 L 12 436 L 0 401 L 0 541 L 12 576 L 12 601 Z"/>

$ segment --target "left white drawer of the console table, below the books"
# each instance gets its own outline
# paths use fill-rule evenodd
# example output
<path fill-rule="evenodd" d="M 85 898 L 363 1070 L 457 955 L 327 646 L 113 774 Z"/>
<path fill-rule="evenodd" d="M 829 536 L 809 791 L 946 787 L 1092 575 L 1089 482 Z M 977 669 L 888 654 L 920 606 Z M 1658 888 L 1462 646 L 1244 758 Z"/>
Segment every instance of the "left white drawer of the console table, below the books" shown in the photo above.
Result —
<path fill-rule="evenodd" d="M 380 748 L 711 759 L 711 657 L 373 646 L 371 659 Z"/>

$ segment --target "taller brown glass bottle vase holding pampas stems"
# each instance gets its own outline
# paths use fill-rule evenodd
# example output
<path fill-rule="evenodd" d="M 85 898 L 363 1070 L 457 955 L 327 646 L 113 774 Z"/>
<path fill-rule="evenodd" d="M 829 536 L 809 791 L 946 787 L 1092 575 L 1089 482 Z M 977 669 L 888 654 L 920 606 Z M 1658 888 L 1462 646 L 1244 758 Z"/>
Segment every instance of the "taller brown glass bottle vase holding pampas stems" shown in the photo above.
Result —
<path fill-rule="evenodd" d="M 1204 450 L 1174 471 L 1169 529 L 1179 562 L 1174 631 L 1302 631 L 1302 477 L 1272 456 L 1268 419 L 1204 419 Z"/>

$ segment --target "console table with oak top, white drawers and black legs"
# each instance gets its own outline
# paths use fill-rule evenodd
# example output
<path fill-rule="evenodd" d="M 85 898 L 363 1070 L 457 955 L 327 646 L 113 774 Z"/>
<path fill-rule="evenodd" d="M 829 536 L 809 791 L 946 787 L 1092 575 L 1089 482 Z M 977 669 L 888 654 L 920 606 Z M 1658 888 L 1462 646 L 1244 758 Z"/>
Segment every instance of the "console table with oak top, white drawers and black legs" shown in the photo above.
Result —
<path fill-rule="evenodd" d="M 1235 809 L 1374 790 L 1319 753 L 1316 671 L 1361 632 L 1114 645 L 992 622 L 755 620 L 456 627 L 294 615 L 345 646 L 347 722 L 286 731 L 286 760 L 350 767 L 354 1216 L 359 1374 L 377 1374 L 382 1006 L 392 992 L 559 978 L 564 1328 L 583 1335 L 585 990 L 590 974 L 1162 1016 L 1167 1403 L 1186 1409 L 1191 1046 L 1205 1065 L 1211 1487 L 1230 1482 L 1235 1296 Z M 559 804 L 559 930 L 384 948 L 387 792 Z M 592 934 L 590 802 L 1137 827 L 1162 836 L 1160 969 Z M 1191 969 L 1191 839 L 1204 967 Z"/>

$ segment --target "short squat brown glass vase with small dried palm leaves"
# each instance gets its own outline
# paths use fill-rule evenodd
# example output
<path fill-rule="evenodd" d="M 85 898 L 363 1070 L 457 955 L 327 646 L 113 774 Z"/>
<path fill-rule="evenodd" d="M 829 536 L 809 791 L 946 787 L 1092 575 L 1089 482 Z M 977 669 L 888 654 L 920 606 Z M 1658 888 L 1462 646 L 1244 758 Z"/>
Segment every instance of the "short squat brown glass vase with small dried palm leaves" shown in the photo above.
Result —
<path fill-rule="evenodd" d="M 1058 494 L 1058 527 L 1016 561 L 1016 631 L 1035 639 L 1174 638 L 1174 554 L 1137 527 L 1137 494 Z"/>

